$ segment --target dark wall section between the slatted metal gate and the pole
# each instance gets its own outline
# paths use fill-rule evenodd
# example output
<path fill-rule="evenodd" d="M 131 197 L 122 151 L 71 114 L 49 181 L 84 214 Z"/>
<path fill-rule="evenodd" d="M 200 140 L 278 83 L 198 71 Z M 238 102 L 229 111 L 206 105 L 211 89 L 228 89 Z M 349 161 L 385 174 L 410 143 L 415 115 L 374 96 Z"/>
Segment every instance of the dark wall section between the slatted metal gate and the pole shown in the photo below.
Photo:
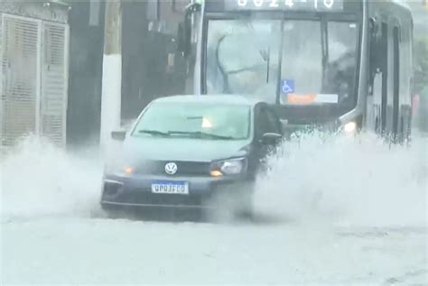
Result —
<path fill-rule="evenodd" d="M 90 24 L 88 1 L 75 1 L 70 10 L 70 75 L 68 145 L 98 143 L 104 50 L 104 5 Z M 94 13 L 94 11 L 92 11 Z"/>

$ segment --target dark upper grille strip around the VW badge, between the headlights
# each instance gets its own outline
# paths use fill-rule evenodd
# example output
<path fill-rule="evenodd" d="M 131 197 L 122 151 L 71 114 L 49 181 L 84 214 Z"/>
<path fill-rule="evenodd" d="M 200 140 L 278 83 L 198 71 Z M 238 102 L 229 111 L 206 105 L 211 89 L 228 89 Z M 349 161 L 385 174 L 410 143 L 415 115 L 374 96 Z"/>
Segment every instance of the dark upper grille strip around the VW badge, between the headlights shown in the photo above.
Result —
<path fill-rule="evenodd" d="M 136 172 L 150 175 L 166 175 L 165 165 L 169 162 L 177 164 L 177 172 L 174 176 L 206 176 L 209 175 L 210 163 L 200 161 L 144 161 L 137 168 Z"/>

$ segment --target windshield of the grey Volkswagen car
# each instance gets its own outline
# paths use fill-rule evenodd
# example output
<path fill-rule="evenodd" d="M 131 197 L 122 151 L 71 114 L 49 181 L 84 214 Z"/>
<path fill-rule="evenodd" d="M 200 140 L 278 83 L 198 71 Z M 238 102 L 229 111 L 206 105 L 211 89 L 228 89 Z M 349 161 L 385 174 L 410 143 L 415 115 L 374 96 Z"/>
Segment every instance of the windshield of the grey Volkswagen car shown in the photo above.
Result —
<path fill-rule="evenodd" d="M 144 111 L 132 135 L 244 140 L 249 126 L 250 106 L 158 102 Z"/>

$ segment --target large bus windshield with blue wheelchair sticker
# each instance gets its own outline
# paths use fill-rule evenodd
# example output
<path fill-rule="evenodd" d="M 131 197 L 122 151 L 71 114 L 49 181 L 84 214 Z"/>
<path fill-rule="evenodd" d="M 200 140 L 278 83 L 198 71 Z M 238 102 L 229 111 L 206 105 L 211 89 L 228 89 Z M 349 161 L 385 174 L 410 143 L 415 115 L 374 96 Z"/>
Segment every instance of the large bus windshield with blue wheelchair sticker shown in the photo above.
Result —
<path fill-rule="evenodd" d="M 206 90 L 283 105 L 355 104 L 355 22 L 210 20 Z"/>

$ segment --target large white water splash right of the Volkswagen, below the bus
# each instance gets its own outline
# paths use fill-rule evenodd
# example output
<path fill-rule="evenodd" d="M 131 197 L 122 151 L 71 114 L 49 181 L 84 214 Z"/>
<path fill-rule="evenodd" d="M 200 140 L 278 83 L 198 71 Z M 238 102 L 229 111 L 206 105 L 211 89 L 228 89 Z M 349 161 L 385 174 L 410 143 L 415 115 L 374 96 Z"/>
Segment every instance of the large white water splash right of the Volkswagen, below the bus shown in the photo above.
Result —
<path fill-rule="evenodd" d="M 390 146 L 358 138 L 303 136 L 270 158 L 256 211 L 341 226 L 426 226 L 427 141 Z"/>

